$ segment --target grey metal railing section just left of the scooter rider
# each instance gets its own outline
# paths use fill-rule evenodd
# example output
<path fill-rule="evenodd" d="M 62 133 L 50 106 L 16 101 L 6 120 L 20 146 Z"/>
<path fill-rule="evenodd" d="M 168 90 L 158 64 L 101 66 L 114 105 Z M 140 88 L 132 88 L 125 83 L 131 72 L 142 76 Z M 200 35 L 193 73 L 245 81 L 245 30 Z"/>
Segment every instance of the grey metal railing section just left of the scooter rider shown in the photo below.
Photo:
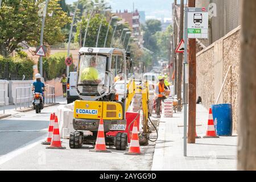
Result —
<path fill-rule="evenodd" d="M 23 108 L 31 107 L 32 100 L 33 100 L 32 86 L 16 87 L 15 109 L 17 109 L 17 105 L 19 105 L 19 109 L 22 109 L 22 106 Z"/>

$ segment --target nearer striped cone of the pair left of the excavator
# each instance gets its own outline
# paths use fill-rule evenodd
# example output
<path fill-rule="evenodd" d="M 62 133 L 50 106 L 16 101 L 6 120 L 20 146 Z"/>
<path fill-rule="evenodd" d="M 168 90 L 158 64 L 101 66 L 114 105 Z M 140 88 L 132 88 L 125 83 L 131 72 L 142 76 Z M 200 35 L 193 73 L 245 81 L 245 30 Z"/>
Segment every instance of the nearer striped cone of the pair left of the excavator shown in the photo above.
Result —
<path fill-rule="evenodd" d="M 51 145 L 49 147 L 46 147 L 46 148 L 51 148 L 51 149 L 65 149 L 66 148 L 66 147 L 61 146 L 60 130 L 59 130 L 59 124 L 58 124 L 57 116 L 55 116 Z"/>

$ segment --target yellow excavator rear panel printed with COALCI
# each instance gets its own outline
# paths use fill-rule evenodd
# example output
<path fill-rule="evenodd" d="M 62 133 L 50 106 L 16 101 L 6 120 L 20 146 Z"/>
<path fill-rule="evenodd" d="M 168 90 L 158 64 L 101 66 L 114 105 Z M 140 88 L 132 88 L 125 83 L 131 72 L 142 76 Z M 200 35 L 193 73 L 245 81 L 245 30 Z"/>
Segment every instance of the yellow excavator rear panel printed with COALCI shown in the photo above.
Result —
<path fill-rule="evenodd" d="M 102 118 L 102 102 L 100 101 L 75 101 L 74 118 L 100 119 Z"/>

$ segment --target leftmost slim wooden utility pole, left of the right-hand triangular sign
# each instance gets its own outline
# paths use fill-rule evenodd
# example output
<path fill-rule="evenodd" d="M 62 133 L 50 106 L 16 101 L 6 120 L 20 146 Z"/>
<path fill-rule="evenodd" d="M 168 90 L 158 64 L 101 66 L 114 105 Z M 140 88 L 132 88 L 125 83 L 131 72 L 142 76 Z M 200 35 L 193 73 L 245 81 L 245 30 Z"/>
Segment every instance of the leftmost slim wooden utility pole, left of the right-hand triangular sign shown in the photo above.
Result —
<path fill-rule="evenodd" d="M 174 16 L 173 16 L 173 21 L 174 21 L 174 50 L 177 47 L 177 0 L 174 0 Z M 177 55 L 174 51 L 174 72 L 175 72 L 175 81 L 174 81 L 174 92 L 177 94 Z"/>

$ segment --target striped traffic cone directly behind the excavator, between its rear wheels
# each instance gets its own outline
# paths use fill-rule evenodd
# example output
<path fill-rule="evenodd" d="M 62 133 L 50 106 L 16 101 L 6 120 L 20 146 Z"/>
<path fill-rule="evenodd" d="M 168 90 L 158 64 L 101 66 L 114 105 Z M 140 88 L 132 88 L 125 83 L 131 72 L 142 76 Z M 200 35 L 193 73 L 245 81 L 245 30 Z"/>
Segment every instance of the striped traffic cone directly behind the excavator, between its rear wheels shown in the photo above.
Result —
<path fill-rule="evenodd" d="M 105 143 L 105 135 L 104 135 L 104 125 L 103 125 L 103 119 L 100 119 L 100 125 L 98 125 L 98 134 L 97 134 L 97 140 L 96 145 L 94 149 L 90 149 L 90 152 L 111 152 L 110 150 L 106 149 L 106 143 Z"/>

